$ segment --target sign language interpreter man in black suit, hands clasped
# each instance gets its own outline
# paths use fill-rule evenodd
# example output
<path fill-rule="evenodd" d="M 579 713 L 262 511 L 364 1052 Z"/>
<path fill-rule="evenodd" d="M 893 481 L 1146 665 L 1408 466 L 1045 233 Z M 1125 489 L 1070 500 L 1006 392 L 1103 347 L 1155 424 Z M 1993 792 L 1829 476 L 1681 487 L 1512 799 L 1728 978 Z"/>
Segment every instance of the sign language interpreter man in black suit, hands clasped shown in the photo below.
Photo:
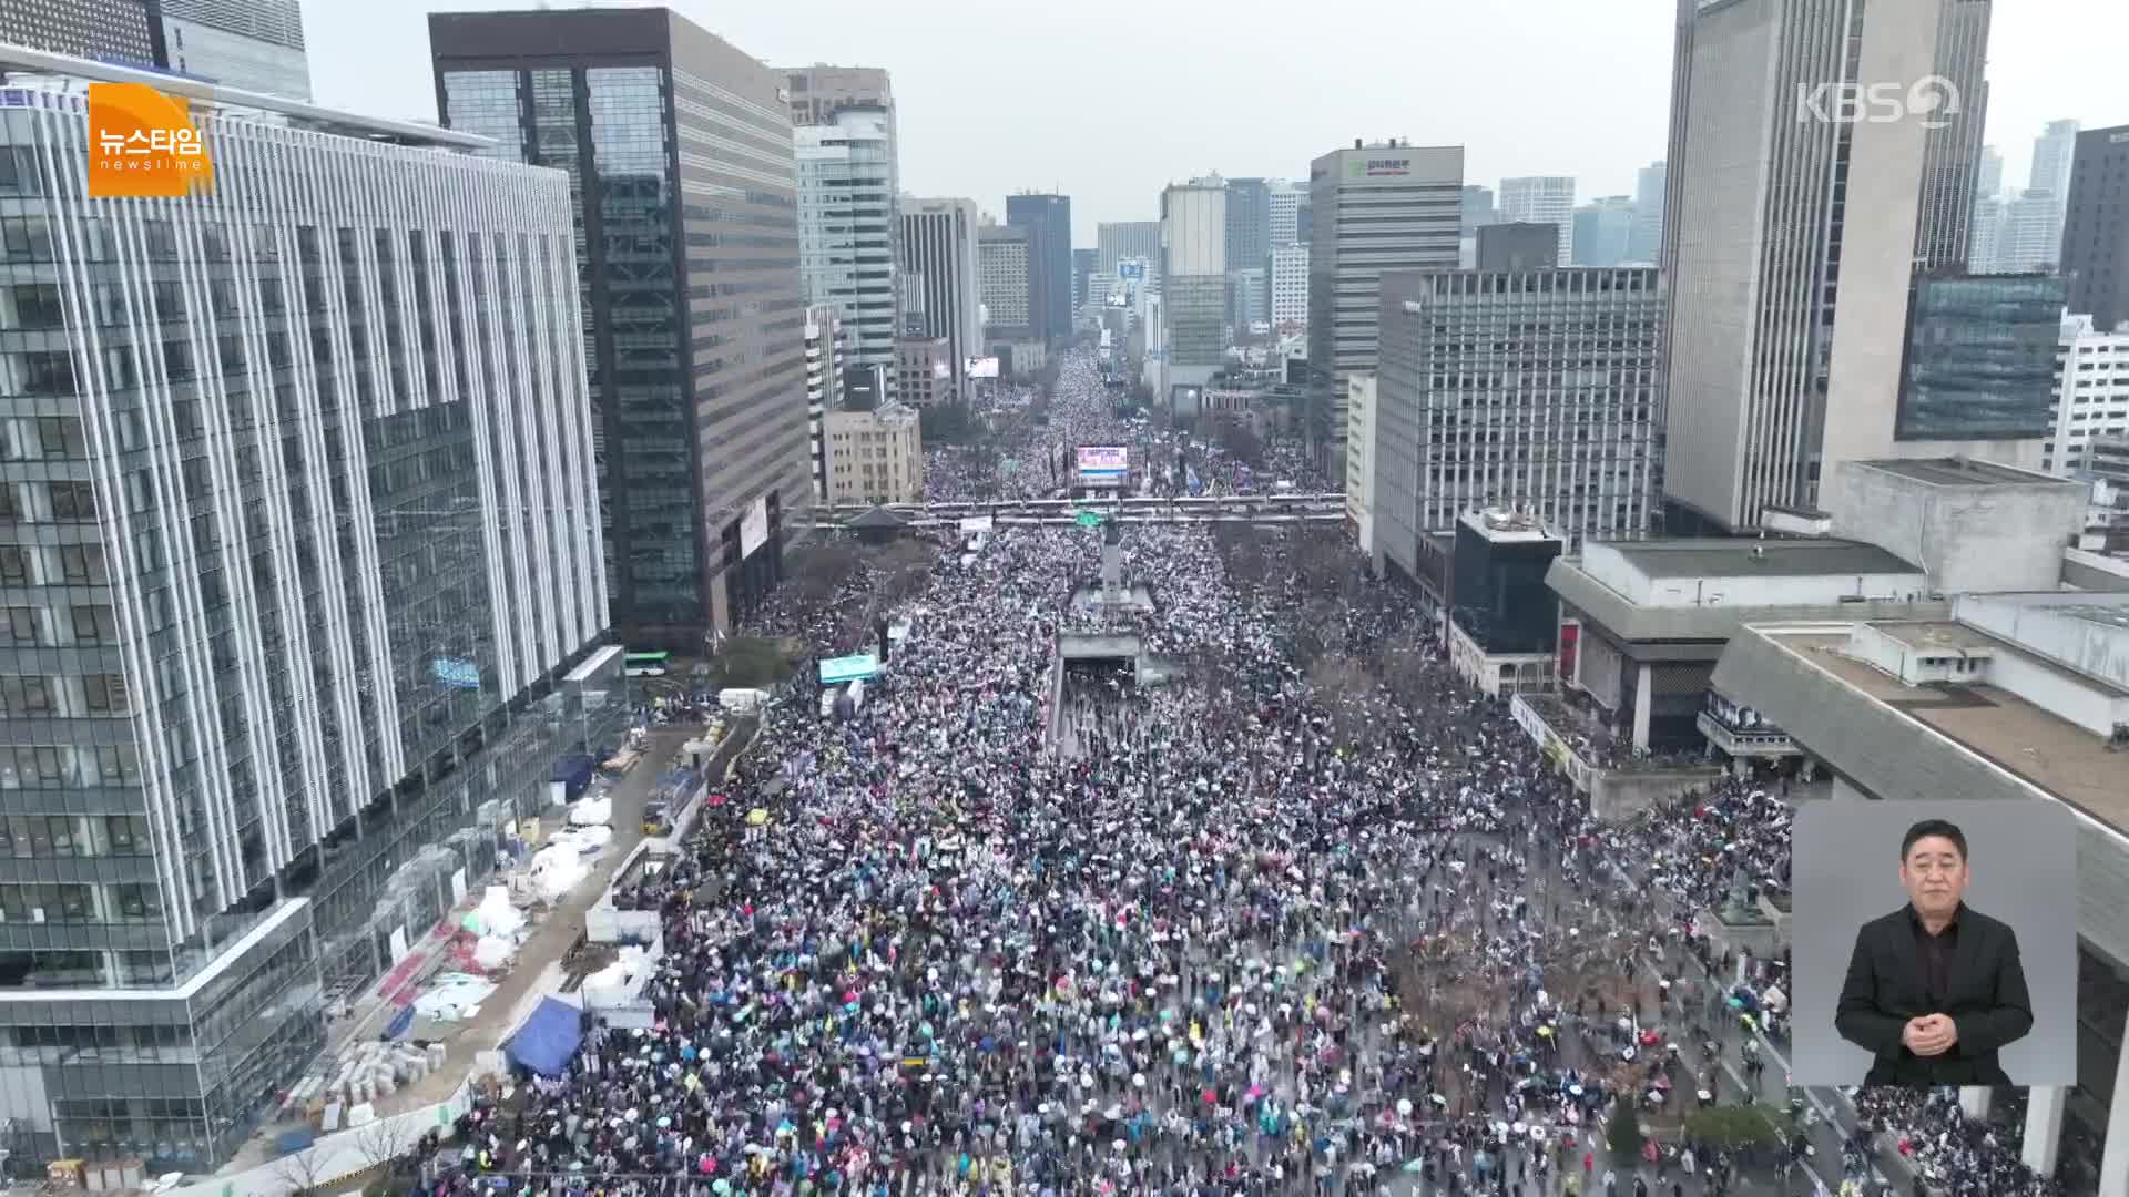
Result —
<path fill-rule="evenodd" d="M 2018 935 L 1965 905 L 1967 837 L 1925 818 L 1899 843 L 1908 905 L 1856 931 L 1833 1027 L 1867 1048 L 1863 1084 L 2010 1084 L 1997 1050 L 2033 1029 Z"/>

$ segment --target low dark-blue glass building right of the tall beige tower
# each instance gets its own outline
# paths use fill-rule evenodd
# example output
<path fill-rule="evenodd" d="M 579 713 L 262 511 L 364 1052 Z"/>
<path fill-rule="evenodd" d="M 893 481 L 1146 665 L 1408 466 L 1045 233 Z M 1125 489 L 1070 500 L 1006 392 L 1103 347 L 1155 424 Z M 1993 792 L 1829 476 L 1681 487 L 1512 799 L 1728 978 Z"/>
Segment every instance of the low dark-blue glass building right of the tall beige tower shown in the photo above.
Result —
<path fill-rule="evenodd" d="M 2054 432 L 2063 279 L 1925 275 L 1908 302 L 1899 441 L 2012 441 Z"/>

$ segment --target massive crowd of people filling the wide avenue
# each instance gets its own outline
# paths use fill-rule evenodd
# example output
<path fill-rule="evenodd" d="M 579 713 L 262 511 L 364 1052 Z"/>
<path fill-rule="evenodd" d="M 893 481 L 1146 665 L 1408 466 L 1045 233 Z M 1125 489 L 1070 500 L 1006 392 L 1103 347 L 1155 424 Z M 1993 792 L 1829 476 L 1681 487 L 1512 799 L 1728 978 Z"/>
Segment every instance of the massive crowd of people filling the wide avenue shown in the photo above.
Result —
<path fill-rule="evenodd" d="M 1026 462 L 1182 447 L 1120 424 L 1082 354 L 1043 415 Z M 952 456 L 933 486 L 960 488 Z M 862 709 L 764 720 L 771 818 L 709 811 L 649 895 L 656 1029 L 592 1027 L 566 1076 L 462 1118 L 426 1186 L 1680 1197 L 1790 1159 L 1673 1137 L 1620 1161 L 1603 1133 L 1614 1105 L 1759 1101 L 1720 1029 L 1739 995 L 1680 912 L 1786 890 L 1778 797 L 1599 826 L 1439 652 L 1394 699 L 1328 692 L 1292 660 L 1299 575 L 1243 601 L 1203 526 L 1122 550 L 1150 613 L 1073 603 L 1082 528 L 941 552 Z M 1360 662 L 1433 635 L 1382 581 L 1343 620 Z M 1060 635 L 1094 626 L 1190 667 L 1067 669 Z M 2001 1159 L 1948 1191 L 2046 1193 Z"/>

